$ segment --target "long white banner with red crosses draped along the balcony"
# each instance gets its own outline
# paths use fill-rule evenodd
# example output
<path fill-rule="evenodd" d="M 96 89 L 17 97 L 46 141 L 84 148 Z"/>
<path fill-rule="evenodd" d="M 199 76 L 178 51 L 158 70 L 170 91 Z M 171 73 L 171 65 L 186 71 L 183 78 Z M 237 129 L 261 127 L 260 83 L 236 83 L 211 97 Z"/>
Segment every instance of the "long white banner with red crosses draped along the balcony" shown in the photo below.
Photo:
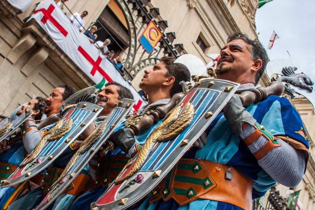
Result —
<path fill-rule="evenodd" d="M 136 100 L 134 110 L 138 110 L 146 104 L 137 91 L 123 79 L 114 65 L 107 60 L 106 56 L 71 23 L 53 0 L 44 0 L 39 3 L 31 19 L 35 19 L 69 58 L 96 84 L 103 77 L 106 82 L 118 82 L 129 88 L 134 95 Z"/>

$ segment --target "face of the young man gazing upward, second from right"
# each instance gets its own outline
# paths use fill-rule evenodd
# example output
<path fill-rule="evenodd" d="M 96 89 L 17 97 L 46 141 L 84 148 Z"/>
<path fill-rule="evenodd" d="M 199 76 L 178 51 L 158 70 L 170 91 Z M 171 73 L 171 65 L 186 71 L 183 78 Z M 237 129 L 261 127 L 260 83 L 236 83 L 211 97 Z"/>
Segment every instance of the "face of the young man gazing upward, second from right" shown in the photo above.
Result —
<path fill-rule="evenodd" d="M 154 65 L 152 69 L 144 71 L 145 75 L 143 75 L 139 87 L 146 92 L 148 92 L 150 88 L 161 88 L 163 82 L 168 80 L 168 78 L 165 77 L 167 72 L 168 70 L 164 61 Z"/>

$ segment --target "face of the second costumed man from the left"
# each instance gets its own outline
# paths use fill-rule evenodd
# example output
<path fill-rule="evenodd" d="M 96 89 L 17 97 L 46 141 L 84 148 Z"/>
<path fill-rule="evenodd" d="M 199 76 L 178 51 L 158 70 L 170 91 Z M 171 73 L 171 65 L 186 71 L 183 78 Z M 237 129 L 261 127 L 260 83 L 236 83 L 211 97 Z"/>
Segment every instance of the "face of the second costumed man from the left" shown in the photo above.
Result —
<path fill-rule="evenodd" d="M 46 106 L 44 113 L 49 116 L 51 114 L 59 113 L 59 108 L 63 103 L 62 94 L 65 92 L 65 88 L 55 88 L 50 96 L 45 100 Z"/>

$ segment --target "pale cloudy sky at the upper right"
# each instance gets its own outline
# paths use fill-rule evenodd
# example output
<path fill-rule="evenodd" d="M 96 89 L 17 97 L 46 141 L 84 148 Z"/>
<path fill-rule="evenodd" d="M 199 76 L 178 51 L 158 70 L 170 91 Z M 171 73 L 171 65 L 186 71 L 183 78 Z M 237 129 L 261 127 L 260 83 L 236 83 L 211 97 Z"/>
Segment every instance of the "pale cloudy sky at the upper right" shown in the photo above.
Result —
<path fill-rule="evenodd" d="M 255 22 L 258 38 L 265 48 L 272 31 L 277 39 L 270 60 L 291 59 L 299 61 L 299 70 L 315 80 L 315 0 L 273 0 L 257 9 Z"/>

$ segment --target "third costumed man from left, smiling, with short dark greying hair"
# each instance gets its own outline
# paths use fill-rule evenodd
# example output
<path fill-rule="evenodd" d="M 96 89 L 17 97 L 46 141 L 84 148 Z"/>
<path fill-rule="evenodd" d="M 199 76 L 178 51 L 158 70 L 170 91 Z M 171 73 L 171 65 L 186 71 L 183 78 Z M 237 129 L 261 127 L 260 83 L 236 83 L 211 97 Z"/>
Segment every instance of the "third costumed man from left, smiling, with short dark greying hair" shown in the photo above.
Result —
<path fill-rule="evenodd" d="M 59 175 L 62 173 L 63 169 L 68 164 L 69 160 L 73 156 L 73 154 L 77 151 L 80 147 L 81 143 L 85 138 L 92 133 L 95 126 L 102 123 L 106 116 L 112 111 L 115 104 L 117 104 L 121 99 L 129 98 L 133 99 L 133 95 L 129 89 L 124 87 L 123 85 L 117 82 L 108 82 L 105 84 L 105 88 L 98 94 L 98 101 L 97 105 L 103 107 L 102 111 L 98 115 L 97 118 L 86 128 L 83 133 L 80 135 L 78 140 L 74 141 L 70 147 L 68 147 L 57 160 L 54 161 L 53 167 L 49 167 L 47 171 L 47 175 L 44 177 L 43 184 L 41 188 L 37 188 L 32 190 L 26 196 L 22 197 L 21 199 L 15 201 L 9 209 L 17 209 L 23 207 L 24 209 L 34 209 L 46 196 L 47 190 L 58 178 Z M 89 186 L 89 183 L 92 183 L 89 179 L 89 170 L 90 174 L 95 175 L 95 162 L 93 160 L 89 164 L 90 167 L 84 167 L 81 173 L 74 179 L 73 183 L 73 190 L 67 191 L 64 194 L 60 195 L 55 202 L 53 202 L 48 208 L 49 209 L 67 209 L 77 196 L 77 192 L 84 190 L 85 186 Z M 56 174 L 52 176 L 51 174 Z M 59 175 L 58 175 L 59 174 Z M 85 184 L 85 185 L 84 185 Z M 89 188 L 88 188 L 89 189 Z M 86 190 L 88 190 L 86 189 Z M 68 194 L 69 193 L 69 194 Z M 32 201 L 32 202 L 30 202 Z"/>

